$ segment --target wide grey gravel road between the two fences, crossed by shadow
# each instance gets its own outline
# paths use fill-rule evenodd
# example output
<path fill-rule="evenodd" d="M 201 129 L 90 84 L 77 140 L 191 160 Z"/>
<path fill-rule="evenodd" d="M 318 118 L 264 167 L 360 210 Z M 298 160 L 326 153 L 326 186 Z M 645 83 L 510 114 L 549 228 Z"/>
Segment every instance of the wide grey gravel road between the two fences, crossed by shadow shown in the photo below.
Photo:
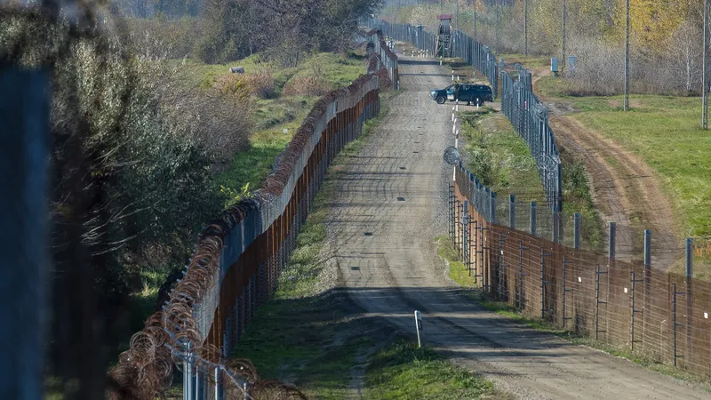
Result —
<path fill-rule="evenodd" d="M 516 324 L 459 294 L 434 244 L 446 233 L 451 167 L 442 154 L 453 142 L 451 108 L 427 97 L 449 78 L 422 59 L 403 60 L 400 72 L 404 92 L 371 143 L 344 166 L 326 222 L 340 281 L 363 308 L 363 320 L 414 335 L 412 312 L 419 309 L 426 344 L 519 398 L 708 398 L 627 360 Z"/>

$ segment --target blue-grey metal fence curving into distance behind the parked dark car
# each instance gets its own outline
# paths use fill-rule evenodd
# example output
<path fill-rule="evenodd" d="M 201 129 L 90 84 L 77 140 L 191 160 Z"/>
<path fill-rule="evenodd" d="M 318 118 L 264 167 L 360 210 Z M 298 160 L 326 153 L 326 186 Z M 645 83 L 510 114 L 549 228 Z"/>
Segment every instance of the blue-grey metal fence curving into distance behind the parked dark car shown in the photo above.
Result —
<path fill-rule="evenodd" d="M 387 36 L 410 42 L 419 50 L 435 54 L 437 37 L 422 26 L 394 24 L 384 20 L 364 20 L 370 28 L 379 28 Z M 453 58 L 460 58 L 482 72 L 491 84 L 491 92 L 496 97 L 499 92 L 499 72 L 502 83 L 501 111 L 514 125 L 516 132 L 526 141 L 531 155 L 536 159 L 539 177 L 546 191 L 547 206 L 555 217 L 553 228 L 562 230 L 563 212 L 563 168 L 553 131 L 548 125 L 548 109 L 533 94 L 531 71 L 516 65 L 517 79 L 502 70 L 491 49 L 475 41 L 471 36 L 454 30 L 451 35 Z M 501 60 L 503 61 L 503 60 Z M 503 62 L 501 63 L 503 64 Z M 562 236 L 558 232 L 558 236 Z"/>

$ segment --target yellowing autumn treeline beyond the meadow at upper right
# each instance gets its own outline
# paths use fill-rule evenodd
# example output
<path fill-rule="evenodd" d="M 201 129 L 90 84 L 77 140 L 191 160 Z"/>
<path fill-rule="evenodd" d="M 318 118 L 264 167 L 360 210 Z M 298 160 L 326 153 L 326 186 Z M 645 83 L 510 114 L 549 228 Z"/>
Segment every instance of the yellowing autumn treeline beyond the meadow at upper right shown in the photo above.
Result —
<path fill-rule="evenodd" d="M 404 2 L 403 2 L 404 3 Z M 456 3 L 425 5 L 388 0 L 383 13 L 401 22 L 434 26 Z M 563 1 L 528 0 L 529 54 L 561 57 Z M 496 53 L 523 53 L 525 0 L 459 1 L 459 28 Z M 704 0 L 630 0 L 630 73 L 634 92 L 699 94 Z M 399 13 L 398 13 L 399 9 Z M 578 58 L 568 76 L 573 94 L 613 94 L 624 84 L 624 0 L 567 0 L 566 54 Z M 476 12 L 475 12 L 476 11 Z M 452 24 L 456 24 L 452 21 Z"/>

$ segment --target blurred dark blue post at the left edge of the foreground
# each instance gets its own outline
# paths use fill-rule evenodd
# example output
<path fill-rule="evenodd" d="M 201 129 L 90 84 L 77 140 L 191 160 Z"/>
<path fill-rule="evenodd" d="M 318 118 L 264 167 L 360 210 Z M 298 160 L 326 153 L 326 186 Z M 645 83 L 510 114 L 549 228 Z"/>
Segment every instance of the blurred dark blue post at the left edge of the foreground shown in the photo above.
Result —
<path fill-rule="evenodd" d="M 46 71 L 0 67 L 0 398 L 43 399 L 47 257 Z"/>

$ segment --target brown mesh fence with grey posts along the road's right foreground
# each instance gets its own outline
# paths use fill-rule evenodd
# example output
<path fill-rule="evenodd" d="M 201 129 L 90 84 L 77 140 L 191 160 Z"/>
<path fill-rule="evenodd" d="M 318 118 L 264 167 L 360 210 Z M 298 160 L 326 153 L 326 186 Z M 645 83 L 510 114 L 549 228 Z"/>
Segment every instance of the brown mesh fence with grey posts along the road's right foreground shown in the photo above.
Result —
<path fill-rule="evenodd" d="M 583 249 L 579 214 L 569 236 L 547 238 L 554 215 L 515 197 L 497 201 L 459 163 L 449 193 L 449 235 L 476 288 L 520 310 L 635 356 L 711 376 L 711 284 L 693 277 L 693 243 L 686 239 L 686 273 L 655 266 L 652 233 L 643 233 L 640 260 L 615 256 L 611 222 L 608 251 Z M 497 203 L 507 204 L 502 215 Z M 523 216 L 524 218 L 520 218 Z M 561 232 L 562 234 L 562 232 Z"/>

